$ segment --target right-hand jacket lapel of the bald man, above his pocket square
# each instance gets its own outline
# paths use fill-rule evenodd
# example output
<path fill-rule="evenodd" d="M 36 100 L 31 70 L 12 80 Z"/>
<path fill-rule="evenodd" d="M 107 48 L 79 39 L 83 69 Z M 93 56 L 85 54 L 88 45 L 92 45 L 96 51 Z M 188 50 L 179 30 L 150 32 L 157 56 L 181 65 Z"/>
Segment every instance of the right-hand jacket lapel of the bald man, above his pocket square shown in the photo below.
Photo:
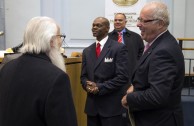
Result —
<path fill-rule="evenodd" d="M 100 53 L 100 56 L 98 57 L 98 59 L 96 60 L 96 64 L 94 66 L 94 70 L 98 67 L 98 65 L 103 62 L 104 57 L 106 56 L 106 54 L 109 52 L 110 50 L 110 46 L 111 46 L 111 41 L 110 39 L 108 39 Z"/>

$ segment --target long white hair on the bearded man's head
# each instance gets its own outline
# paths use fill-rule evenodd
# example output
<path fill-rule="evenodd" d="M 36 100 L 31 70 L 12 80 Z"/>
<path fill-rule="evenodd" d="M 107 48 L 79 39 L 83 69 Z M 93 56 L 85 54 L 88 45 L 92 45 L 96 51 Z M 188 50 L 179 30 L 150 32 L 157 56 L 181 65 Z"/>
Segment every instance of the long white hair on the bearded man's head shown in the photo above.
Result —
<path fill-rule="evenodd" d="M 20 52 L 35 54 L 48 52 L 50 42 L 53 36 L 57 34 L 57 30 L 57 24 L 49 17 L 32 18 L 26 26 Z"/>

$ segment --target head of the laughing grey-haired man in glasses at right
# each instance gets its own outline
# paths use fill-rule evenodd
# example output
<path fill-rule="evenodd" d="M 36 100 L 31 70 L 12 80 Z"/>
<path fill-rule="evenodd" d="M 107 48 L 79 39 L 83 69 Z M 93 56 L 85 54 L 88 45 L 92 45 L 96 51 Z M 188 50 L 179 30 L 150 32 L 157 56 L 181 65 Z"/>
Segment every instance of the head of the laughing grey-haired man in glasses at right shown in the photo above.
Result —
<path fill-rule="evenodd" d="M 141 30 L 142 39 L 152 42 L 169 25 L 167 6 L 162 2 L 147 3 L 140 12 L 137 27 Z"/>

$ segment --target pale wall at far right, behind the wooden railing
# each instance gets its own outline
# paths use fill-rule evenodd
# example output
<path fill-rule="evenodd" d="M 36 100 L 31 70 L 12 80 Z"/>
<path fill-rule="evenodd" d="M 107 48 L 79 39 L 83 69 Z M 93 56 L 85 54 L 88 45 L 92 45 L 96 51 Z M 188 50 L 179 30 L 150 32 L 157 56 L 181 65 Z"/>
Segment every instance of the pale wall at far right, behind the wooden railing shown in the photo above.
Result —
<path fill-rule="evenodd" d="M 174 2 L 173 34 L 176 38 L 194 38 L 194 1 L 177 0 Z M 194 48 L 194 41 L 183 42 L 183 47 Z M 183 51 L 184 57 L 194 59 L 194 51 Z M 185 71 L 189 73 L 189 60 L 185 60 Z M 190 72 L 194 73 L 194 60 L 191 61 Z"/>

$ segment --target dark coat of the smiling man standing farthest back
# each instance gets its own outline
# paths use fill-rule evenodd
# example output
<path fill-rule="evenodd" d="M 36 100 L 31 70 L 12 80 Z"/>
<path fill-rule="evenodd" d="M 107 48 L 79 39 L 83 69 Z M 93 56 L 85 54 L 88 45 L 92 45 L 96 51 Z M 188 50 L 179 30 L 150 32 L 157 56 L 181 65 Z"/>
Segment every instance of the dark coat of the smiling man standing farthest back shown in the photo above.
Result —
<path fill-rule="evenodd" d="M 137 61 L 143 54 L 144 43 L 141 39 L 141 36 L 135 32 L 129 31 L 127 28 L 126 32 L 123 33 L 124 43 L 127 46 L 129 52 L 129 78 L 132 76 L 133 69 L 135 68 Z M 109 33 L 109 37 L 115 41 L 118 40 L 118 33 L 116 30 L 113 30 Z M 131 82 L 129 82 L 131 83 Z"/>

